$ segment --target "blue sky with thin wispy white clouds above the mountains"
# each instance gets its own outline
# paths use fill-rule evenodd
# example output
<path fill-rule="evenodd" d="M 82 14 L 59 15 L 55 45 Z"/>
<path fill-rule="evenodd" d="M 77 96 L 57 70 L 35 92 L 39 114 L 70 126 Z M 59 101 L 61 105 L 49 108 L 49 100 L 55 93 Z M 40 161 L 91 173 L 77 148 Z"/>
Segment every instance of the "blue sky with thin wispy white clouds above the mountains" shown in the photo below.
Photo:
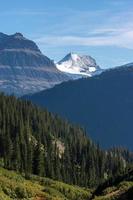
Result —
<path fill-rule="evenodd" d="M 133 0 L 0 0 L 0 31 L 56 61 L 77 52 L 104 68 L 133 62 Z"/>

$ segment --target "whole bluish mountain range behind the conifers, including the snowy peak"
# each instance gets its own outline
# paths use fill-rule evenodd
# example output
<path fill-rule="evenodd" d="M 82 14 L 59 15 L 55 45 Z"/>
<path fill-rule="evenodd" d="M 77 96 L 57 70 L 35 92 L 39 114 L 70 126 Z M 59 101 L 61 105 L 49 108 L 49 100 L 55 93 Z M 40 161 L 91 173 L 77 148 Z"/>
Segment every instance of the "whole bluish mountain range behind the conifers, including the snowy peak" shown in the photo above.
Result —
<path fill-rule="evenodd" d="M 132 63 L 102 70 L 94 58 L 77 53 L 55 64 L 21 33 L 0 33 L 0 90 L 27 95 L 85 127 L 105 147 L 132 148 L 132 76 Z"/>

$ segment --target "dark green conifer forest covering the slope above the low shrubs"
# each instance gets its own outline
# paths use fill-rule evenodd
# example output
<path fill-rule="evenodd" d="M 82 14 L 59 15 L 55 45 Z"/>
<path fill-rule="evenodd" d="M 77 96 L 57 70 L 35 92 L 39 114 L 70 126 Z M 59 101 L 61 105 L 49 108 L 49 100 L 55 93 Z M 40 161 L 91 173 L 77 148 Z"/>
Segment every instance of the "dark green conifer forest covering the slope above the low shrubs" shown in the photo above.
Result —
<path fill-rule="evenodd" d="M 28 101 L 0 94 L 0 164 L 7 169 L 94 186 L 125 172 L 123 148 L 103 151 L 85 131 Z"/>

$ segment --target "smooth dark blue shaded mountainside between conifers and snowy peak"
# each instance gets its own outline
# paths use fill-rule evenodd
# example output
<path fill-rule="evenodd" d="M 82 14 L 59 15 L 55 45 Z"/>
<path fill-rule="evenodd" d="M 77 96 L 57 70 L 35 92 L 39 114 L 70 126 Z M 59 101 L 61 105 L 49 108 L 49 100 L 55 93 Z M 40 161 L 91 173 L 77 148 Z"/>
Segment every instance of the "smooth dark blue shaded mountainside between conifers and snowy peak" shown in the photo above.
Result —
<path fill-rule="evenodd" d="M 133 149 L 133 65 L 70 81 L 26 98 L 85 127 L 104 147 Z"/>

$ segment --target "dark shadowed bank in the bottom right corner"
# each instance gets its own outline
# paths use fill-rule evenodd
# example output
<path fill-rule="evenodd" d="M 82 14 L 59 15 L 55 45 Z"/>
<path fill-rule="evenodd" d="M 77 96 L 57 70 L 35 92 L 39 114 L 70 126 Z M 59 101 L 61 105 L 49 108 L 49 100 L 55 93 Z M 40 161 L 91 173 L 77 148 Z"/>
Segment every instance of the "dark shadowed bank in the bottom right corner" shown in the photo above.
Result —
<path fill-rule="evenodd" d="M 133 170 L 100 184 L 92 196 L 91 200 L 132 200 Z"/>

